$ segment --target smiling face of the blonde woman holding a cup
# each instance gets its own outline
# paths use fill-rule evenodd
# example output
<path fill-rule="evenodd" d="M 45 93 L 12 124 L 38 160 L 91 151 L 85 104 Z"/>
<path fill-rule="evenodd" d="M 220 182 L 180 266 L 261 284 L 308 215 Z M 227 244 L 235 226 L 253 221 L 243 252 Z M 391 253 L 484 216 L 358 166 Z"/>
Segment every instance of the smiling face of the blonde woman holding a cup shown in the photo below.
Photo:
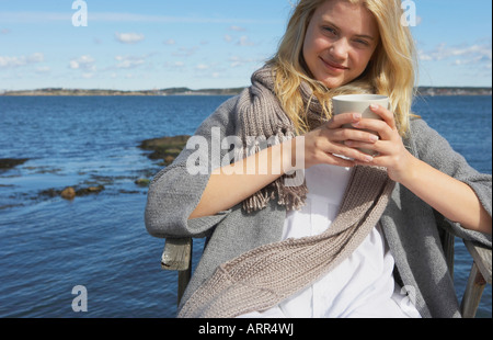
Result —
<path fill-rule="evenodd" d="M 344 0 L 322 3 L 313 13 L 303 44 L 311 76 L 334 89 L 358 78 L 379 43 L 374 15 Z"/>

